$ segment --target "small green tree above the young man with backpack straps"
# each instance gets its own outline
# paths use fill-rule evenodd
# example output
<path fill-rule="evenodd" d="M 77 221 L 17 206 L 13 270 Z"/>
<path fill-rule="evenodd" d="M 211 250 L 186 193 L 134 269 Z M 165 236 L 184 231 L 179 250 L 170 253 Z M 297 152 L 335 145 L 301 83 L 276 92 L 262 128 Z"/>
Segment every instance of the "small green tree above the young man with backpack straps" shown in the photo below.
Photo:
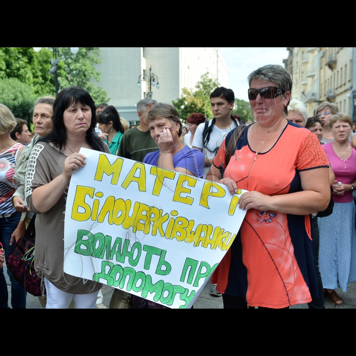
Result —
<path fill-rule="evenodd" d="M 182 121 L 186 122 L 187 118 L 194 112 L 200 112 L 206 117 L 212 117 L 209 96 L 218 86 L 220 86 L 219 82 L 214 81 L 209 72 L 207 72 L 200 77 L 200 80 L 195 85 L 195 91 L 183 88 L 181 98 L 172 101 Z"/>

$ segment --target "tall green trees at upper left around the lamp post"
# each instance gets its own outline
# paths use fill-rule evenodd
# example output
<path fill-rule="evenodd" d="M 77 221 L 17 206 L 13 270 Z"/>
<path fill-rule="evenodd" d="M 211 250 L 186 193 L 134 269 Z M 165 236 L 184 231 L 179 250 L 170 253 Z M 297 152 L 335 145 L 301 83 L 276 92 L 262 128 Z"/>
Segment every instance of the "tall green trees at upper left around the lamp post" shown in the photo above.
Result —
<path fill-rule="evenodd" d="M 52 68 L 50 58 L 54 58 L 51 48 L 43 47 L 36 53 L 32 47 L 0 47 L 0 78 L 19 79 L 31 86 L 37 97 L 54 96 L 54 74 L 48 74 Z M 100 63 L 99 47 L 80 47 L 76 55 L 69 47 L 61 47 L 60 58 L 60 91 L 67 86 L 78 85 L 87 90 L 97 104 L 110 100 L 106 91 L 93 81 L 100 80 L 100 72 L 93 67 Z"/>

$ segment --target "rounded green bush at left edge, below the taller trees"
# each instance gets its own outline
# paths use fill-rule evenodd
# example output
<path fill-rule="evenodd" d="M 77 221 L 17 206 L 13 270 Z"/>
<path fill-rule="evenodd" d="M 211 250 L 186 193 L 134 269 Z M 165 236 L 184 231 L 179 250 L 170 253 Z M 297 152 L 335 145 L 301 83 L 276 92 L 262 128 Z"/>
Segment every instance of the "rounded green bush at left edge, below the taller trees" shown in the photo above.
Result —
<path fill-rule="evenodd" d="M 17 78 L 0 79 L 0 103 L 5 104 L 15 117 L 26 120 L 28 127 L 32 123 L 32 114 L 29 111 L 35 99 L 32 87 L 28 84 Z"/>

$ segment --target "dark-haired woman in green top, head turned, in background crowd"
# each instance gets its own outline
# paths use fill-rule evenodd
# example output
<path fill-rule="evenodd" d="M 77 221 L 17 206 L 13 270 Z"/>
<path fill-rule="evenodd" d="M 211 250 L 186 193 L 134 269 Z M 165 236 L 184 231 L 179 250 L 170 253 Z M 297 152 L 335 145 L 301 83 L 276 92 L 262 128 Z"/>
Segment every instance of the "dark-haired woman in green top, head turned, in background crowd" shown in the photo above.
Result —
<path fill-rule="evenodd" d="M 115 107 L 110 105 L 104 109 L 97 116 L 97 122 L 102 132 L 99 137 L 109 146 L 111 155 L 117 156 L 118 146 L 125 130 Z"/>

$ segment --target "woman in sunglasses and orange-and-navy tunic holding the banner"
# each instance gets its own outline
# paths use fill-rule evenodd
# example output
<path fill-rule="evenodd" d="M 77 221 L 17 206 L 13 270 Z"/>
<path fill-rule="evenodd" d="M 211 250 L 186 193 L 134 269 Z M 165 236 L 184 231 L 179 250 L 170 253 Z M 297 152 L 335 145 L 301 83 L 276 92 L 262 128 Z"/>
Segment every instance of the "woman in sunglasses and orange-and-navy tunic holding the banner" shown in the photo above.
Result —
<path fill-rule="evenodd" d="M 213 274 L 224 308 L 288 308 L 317 298 L 311 215 L 330 200 L 329 162 L 313 132 L 288 122 L 292 80 L 269 65 L 249 77 L 255 123 L 226 167 L 223 141 L 207 180 L 225 184 L 247 210 L 238 236 Z M 226 168 L 222 178 L 219 166 Z"/>

